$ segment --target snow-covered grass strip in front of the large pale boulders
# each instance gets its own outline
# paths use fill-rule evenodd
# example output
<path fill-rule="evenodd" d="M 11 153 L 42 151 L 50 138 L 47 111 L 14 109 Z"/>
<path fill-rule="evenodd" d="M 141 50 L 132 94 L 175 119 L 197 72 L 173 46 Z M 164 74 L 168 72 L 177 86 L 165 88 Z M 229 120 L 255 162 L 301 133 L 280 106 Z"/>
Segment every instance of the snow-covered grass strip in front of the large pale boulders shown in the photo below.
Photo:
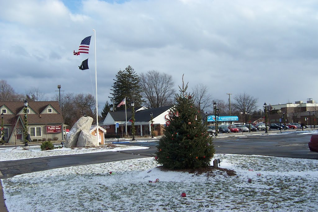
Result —
<path fill-rule="evenodd" d="M 62 146 L 57 145 L 55 147 Z M 126 145 L 107 144 L 99 147 L 74 147 L 74 148 L 56 148 L 53 150 L 41 151 L 40 146 L 28 147 L 9 147 L 0 149 L 0 161 L 13 161 L 28 158 L 39 158 L 48 156 L 58 156 L 67 154 L 85 154 L 93 152 L 107 152 L 107 151 L 120 151 L 120 150 L 133 150 L 133 149 L 147 149 L 149 147 L 137 147 Z"/>

